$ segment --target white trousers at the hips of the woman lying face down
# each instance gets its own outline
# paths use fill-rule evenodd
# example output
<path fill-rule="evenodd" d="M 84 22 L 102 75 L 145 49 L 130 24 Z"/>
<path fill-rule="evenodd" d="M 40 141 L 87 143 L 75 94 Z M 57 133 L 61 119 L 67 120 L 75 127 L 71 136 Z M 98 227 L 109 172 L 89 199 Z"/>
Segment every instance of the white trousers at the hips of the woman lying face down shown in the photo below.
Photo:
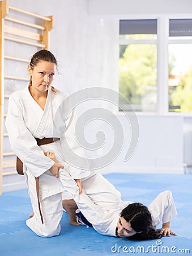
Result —
<path fill-rule="evenodd" d="M 62 174 L 60 179 L 62 181 Z M 82 188 L 89 199 L 104 210 L 118 208 L 121 203 L 121 193 L 99 173 L 82 179 Z M 62 195 L 62 200 L 72 198 L 66 192 Z"/>

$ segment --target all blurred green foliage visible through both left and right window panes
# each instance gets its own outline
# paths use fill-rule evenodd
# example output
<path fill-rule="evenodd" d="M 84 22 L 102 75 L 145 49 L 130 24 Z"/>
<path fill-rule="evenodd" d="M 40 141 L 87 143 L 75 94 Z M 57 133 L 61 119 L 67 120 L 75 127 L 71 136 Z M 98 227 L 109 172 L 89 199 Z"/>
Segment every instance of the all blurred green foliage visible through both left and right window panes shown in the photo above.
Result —
<path fill-rule="evenodd" d="M 126 38 L 129 36 L 129 38 Z M 126 39 L 144 39 L 145 35 L 126 35 Z M 123 38 L 123 36 L 122 36 Z M 176 65 L 176 57 L 169 53 L 169 77 Z M 142 104 L 142 97 L 155 92 L 157 79 L 157 49 L 155 44 L 120 46 L 119 88 L 131 104 Z M 192 112 L 192 67 L 182 77 L 181 84 L 170 88 L 169 104 L 181 106 L 174 111 Z M 152 88 L 154 90 L 152 90 Z M 154 93 L 150 95 L 154 97 Z M 123 101 L 120 99 L 120 104 Z"/>

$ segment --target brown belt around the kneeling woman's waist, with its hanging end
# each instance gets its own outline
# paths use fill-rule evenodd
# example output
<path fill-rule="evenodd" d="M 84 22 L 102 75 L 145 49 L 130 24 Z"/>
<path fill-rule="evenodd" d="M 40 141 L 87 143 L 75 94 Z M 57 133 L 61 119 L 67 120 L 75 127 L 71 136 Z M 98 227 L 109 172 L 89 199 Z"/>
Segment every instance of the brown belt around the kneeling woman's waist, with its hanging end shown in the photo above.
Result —
<path fill-rule="evenodd" d="M 58 140 L 59 140 L 59 138 L 36 139 L 38 146 L 53 143 Z M 18 158 L 18 156 L 16 157 L 16 171 L 18 172 L 18 174 L 24 175 L 23 174 L 23 162 Z M 42 218 L 42 213 L 41 213 L 40 201 L 39 201 L 39 177 L 35 177 L 35 181 L 36 181 L 36 192 L 37 192 L 37 199 L 38 199 L 39 212 L 40 212 L 40 216 L 41 216 L 41 222 L 42 222 L 42 224 L 44 224 L 44 221 Z"/>

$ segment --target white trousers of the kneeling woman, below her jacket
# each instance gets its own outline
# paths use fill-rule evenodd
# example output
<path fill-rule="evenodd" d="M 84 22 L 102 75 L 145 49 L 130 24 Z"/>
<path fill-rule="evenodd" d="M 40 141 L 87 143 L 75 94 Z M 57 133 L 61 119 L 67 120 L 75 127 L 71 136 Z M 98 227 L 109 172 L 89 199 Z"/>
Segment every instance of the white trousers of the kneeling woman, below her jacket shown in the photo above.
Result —
<path fill-rule="evenodd" d="M 36 180 L 31 172 L 26 171 L 26 183 L 28 186 L 28 193 L 31 199 L 31 204 L 34 212 L 34 216 L 26 221 L 27 226 L 40 237 L 53 237 L 58 236 L 61 231 L 59 222 L 62 218 L 62 196 L 61 193 L 44 197 L 41 200 L 41 185 L 39 182 L 39 200 L 41 205 L 41 213 L 44 224 L 41 222 L 41 216 L 39 211 L 37 192 L 36 192 Z"/>

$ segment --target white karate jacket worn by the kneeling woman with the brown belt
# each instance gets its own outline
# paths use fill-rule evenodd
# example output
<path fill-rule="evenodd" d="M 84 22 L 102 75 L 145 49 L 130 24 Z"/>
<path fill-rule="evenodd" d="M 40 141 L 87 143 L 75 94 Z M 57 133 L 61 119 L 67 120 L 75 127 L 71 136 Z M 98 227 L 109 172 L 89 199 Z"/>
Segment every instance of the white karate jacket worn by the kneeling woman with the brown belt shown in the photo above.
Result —
<path fill-rule="evenodd" d="M 90 174 L 90 171 L 83 170 L 84 164 L 82 163 L 82 169 L 80 170 L 69 166 L 69 164 L 65 162 L 65 156 L 70 154 L 69 148 L 66 147 L 66 141 L 69 142 L 72 151 L 82 156 L 84 156 L 84 152 L 75 141 L 72 129 L 74 123 L 71 122 L 70 118 L 69 120 L 62 118 L 61 111 L 59 115 L 57 112 L 58 108 L 61 108 L 62 102 L 67 97 L 67 94 L 59 92 L 58 90 L 56 91 L 56 93 L 53 93 L 52 89 L 49 88 L 44 110 L 41 109 L 39 104 L 37 104 L 31 96 L 28 85 L 26 88 L 11 94 L 5 123 L 11 148 L 24 163 L 24 170 L 27 168 L 35 177 L 41 176 L 53 166 L 54 161 L 44 155 L 44 151 L 52 151 L 55 152 L 59 163 L 65 166 L 73 179 L 82 179 Z M 57 118 L 55 118 L 56 113 Z M 70 127 L 66 131 L 65 129 L 69 122 Z M 60 141 L 37 146 L 35 138 L 42 139 L 44 137 L 50 138 L 53 136 L 60 138 Z M 55 146 L 56 144 L 57 147 Z M 65 150 L 66 148 L 67 151 Z M 50 175 L 46 175 L 45 178 L 45 182 L 48 185 L 49 176 Z M 62 185 L 59 184 L 58 179 L 55 177 L 53 179 L 52 177 L 52 180 L 51 186 L 53 187 L 55 184 L 55 186 L 60 187 L 56 189 L 57 191 L 63 191 L 63 188 L 61 189 Z"/>

